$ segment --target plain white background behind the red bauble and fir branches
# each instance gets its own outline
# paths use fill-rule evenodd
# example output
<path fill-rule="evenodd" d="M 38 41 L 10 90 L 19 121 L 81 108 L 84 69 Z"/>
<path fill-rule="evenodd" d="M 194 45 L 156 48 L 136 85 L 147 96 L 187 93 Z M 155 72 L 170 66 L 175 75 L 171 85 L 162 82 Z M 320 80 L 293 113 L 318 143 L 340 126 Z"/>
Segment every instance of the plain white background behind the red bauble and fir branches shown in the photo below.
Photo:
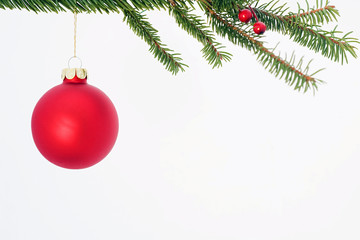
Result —
<path fill-rule="evenodd" d="M 360 3 L 333 4 L 359 37 Z M 220 38 L 234 57 L 212 70 L 167 13 L 149 17 L 185 73 L 165 71 L 121 14 L 79 15 L 78 55 L 120 132 L 104 161 L 73 171 L 45 160 L 30 129 L 72 55 L 73 16 L 1 10 L 0 239 L 360 239 L 360 61 L 266 33 L 327 68 L 304 95 Z"/>

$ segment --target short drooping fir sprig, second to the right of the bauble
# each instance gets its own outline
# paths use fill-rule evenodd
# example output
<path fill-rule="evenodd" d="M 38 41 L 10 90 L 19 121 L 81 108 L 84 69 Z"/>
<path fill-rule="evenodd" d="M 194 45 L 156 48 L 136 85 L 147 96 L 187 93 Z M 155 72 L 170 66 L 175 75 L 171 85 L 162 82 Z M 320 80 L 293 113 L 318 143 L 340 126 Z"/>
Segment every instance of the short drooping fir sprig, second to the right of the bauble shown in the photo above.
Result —
<path fill-rule="evenodd" d="M 204 58 L 213 68 L 222 66 L 223 60 L 231 60 L 232 55 L 221 51 L 224 47 L 216 42 L 213 33 L 207 29 L 207 25 L 199 16 L 180 8 L 172 0 L 169 2 L 172 5 L 170 13 L 174 16 L 177 24 L 204 45 L 201 51 L 203 52 Z"/>

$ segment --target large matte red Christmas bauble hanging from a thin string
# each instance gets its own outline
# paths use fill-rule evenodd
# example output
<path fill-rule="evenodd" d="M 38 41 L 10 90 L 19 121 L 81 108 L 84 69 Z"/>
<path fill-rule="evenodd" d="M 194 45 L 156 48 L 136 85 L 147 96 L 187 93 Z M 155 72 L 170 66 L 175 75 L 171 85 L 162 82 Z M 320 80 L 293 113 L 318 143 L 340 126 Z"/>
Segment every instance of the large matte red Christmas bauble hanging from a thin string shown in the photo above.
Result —
<path fill-rule="evenodd" d="M 82 169 L 108 155 L 118 135 L 119 121 L 111 100 L 87 84 L 86 77 L 75 74 L 42 96 L 35 106 L 31 128 L 34 142 L 47 160 L 63 168 Z"/>

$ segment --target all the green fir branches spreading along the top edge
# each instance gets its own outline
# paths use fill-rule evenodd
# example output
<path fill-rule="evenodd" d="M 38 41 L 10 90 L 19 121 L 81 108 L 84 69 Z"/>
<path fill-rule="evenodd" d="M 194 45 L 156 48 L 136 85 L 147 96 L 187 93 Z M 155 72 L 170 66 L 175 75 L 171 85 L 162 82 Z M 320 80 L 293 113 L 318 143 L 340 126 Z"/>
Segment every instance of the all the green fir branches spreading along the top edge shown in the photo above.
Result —
<path fill-rule="evenodd" d="M 167 70 L 173 74 L 184 71 L 187 67 L 178 53 L 162 43 L 158 31 L 152 26 L 144 14 L 150 10 L 167 10 L 180 28 L 188 32 L 202 45 L 204 58 L 214 68 L 230 61 L 231 54 L 224 51 L 224 46 L 215 39 L 215 34 L 227 38 L 257 55 L 258 61 L 271 73 L 299 91 L 317 89 L 321 80 L 309 73 L 309 65 L 303 66 L 302 58 L 295 62 L 293 54 L 289 59 L 281 58 L 274 51 L 266 48 L 262 41 L 264 36 L 256 35 L 251 24 L 238 21 L 240 9 L 251 5 L 260 21 L 264 22 L 269 31 L 289 36 L 291 40 L 305 46 L 314 52 L 322 54 L 335 62 L 348 62 L 348 56 L 357 58 L 356 45 L 358 39 L 350 33 L 343 34 L 337 28 L 322 29 L 322 25 L 337 21 L 338 10 L 329 4 L 328 0 L 316 0 L 310 7 L 298 4 L 298 10 L 291 12 L 286 4 L 279 0 L 0 0 L 2 9 L 26 9 L 34 12 L 86 12 L 86 13 L 123 13 L 124 21 L 136 35 L 149 46 L 150 52 Z M 196 6 L 207 16 L 206 22 L 202 16 L 194 14 Z M 253 23 L 255 20 L 252 20 Z M 343 36 L 341 36 L 343 34 Z"/>

